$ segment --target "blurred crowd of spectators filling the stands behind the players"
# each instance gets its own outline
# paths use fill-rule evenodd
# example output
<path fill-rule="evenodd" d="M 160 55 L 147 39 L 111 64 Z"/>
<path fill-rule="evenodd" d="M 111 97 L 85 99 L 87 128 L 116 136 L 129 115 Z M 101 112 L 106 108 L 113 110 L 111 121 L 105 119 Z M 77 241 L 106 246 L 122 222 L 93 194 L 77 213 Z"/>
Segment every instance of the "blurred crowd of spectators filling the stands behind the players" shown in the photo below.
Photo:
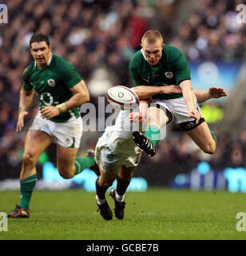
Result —
<path fill-rule="evenodd" d="M 97 96 L 104 95 L 109 86 L 133 84 L 129 77 L 129 60 L 140 49 L 141 36 L 149 29 L 160 30 L 165 35 L 165 43 L 177 46 L 188 61 L 237 62 L 244 58 L 245 26 L 235 22 L 236 5 L 240 1 L 199 1 L 182 25 L 174 29 L 172 18 L 181 2 L 7 1 L 9 23 L 0 24 L 0 179 L 13 173 L 18 177 L 20 171 L 26 130 L 16 134 L 15 126 L 22 72 L 31 62 L 29 40 L 34 31 L 47 34 L 53 53 L 76 66 L 95 104 Z M 32 122 L 37 106 L 35 97 L 26 127 Z M 204 158 L 199 150 L 190 149 L 191 142 L 184 133 L 170 133 L 160 142 L 155 158 L 143 157 L 141 170 L 147 170 L 154 163 L 155 168 L 166 165 L 165 169 L 170 168 L 175 173 L 181 168 L 188 170 Z M 216 154 L 208 161 L 218 168 L 244 165 L 245 133 L 246 130 L 242 130 L 241 134 L 219 138 Z M 93 142 L 83 142 L 81 154 L 96 141 L 94 138 Z"/>

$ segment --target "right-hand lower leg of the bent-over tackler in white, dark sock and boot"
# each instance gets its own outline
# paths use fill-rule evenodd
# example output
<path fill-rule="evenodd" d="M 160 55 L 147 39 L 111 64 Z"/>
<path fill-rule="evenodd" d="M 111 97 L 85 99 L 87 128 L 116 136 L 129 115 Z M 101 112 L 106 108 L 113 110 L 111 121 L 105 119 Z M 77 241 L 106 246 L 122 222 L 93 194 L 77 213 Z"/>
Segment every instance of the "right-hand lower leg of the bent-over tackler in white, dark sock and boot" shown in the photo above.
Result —
<path fill-rule="evenodd" d="M 114 214 L 117 218 L 124 218 L 125 210 L 125 191 L 127 190 L 129 183 L 133 177 L 133 170 L 135 167 L 121 166 L 121 169 L 117 173 L 117 188 L 110 192 L 110 196 L 114 201 Z"/>

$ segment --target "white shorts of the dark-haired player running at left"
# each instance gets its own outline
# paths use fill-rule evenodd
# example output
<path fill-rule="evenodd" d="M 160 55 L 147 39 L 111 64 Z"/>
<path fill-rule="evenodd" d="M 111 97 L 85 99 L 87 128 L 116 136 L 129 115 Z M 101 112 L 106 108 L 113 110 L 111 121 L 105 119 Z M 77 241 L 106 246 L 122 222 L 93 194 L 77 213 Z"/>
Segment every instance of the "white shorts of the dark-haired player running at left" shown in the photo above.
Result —
<path fill-rule="evenodd" d="M 29 130 L 42 130 L 50 135 L 52 142 L 64 146 L 78 148 L 83 133 L 81 118 L 69 118 L 67 122 L 53 122 L 42 118 L 40 112 L 34 118 Z"/>

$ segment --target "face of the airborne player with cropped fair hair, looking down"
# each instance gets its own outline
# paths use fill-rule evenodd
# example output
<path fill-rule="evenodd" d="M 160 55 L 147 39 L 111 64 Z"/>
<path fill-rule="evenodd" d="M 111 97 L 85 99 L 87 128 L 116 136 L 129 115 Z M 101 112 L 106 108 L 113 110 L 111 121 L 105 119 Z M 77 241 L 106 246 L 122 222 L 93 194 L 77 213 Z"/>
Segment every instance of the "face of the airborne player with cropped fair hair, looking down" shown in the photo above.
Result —
<path fill-rule="evenodd" d="M 154 66 L 157 65 L 157 63 L 161 59 L 162 49 L 164 46 L 164 43 L 161 42 L 161 40 L 157 40 L 155 43 L 148 43 L 145 40 L 141 47 L 144 50 L 146 61 L 149 63 L 149 65 Z"/>

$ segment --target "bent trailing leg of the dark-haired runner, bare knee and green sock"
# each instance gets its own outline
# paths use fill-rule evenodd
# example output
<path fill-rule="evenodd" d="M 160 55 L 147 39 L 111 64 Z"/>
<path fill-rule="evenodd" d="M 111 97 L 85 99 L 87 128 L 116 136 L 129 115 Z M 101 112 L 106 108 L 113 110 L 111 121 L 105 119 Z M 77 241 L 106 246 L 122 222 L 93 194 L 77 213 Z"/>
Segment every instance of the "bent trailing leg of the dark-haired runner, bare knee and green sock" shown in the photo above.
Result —
<path fill-rule="evenodd" d="M 95 165 L 93 156 L 76 157 L 77 150 L 78 148 L 57 144 L 57 166 L 62 178 L 73 178 L 74 175 L 80 174 L 82 170 L 92 168 Z"/>

